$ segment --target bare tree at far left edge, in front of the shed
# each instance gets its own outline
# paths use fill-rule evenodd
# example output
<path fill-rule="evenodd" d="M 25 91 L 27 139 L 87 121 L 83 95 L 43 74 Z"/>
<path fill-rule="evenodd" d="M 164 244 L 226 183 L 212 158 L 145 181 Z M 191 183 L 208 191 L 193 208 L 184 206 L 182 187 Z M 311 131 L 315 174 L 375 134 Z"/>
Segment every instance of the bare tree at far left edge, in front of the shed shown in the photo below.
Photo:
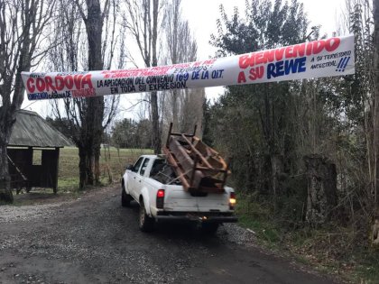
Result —
<path fill-rule="evenodd" d="M 6 147 L 23 104 L 22 71 L 29 71 L 45 54 L 44 29 L 55 0 L 0 1 L 0 200 L 13 201 Z"/>

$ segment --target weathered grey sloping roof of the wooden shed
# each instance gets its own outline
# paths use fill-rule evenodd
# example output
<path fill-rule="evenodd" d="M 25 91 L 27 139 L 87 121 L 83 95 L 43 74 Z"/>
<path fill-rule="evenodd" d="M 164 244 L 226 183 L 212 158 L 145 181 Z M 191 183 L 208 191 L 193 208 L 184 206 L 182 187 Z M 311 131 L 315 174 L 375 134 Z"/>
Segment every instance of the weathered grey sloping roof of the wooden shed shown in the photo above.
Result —
<path fill-rule="evenodd" d="M 71 144 L 68 138 L 47 124 L 37 113 L 17 111 L 9 146 L 56 148 Z"/>

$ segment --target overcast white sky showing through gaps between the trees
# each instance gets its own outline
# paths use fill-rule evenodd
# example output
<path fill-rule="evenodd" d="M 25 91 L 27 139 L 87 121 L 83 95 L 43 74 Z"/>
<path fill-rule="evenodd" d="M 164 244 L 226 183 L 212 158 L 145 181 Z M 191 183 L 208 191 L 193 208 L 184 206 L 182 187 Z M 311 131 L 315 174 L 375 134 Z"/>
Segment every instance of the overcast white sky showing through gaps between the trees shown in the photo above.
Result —
<path fill-rule="evenodd" d="M 288 0 L 291 2 L 291 0 Z M 337 16 L 342 13 L 346 0 L 299 0 L 304 4 L 304 11 L 308 14 L 310 26 L 321 25 L 321 34 L 337 31 Z M 283 1 L 284 2 L 284 1 Z M 217 33 L 216 21 L 219 18 L 219 5 L 224 5 L 226 14 L 233 14 L 234 7 L 237 6 L 240 14 L 244 15 L 245 0 L 182 0 L 182 15 L 189 21 L 193 35 L 198 42 L 199 60 L 205 60 L 214 57 L 216 49 L 209 44 L 210 35 Z M 215 99 L 219 94 L 224 93 L 224 87 L 206 88 L 207 97 Z M 122 106 L 128 108 L 140 98 L 137 94 L 122 95 Z M 23 102 L 23 108 L 31 109 L 42 116 L 51 115 L 49 104 L 45 101 L 32 103 L 26 96 Z M 29 105 L 29 106 L 28 106 Z M 138 113 L 138 107 L 134 110 L 121 112 L 122 117 L 135 117 Z"/>

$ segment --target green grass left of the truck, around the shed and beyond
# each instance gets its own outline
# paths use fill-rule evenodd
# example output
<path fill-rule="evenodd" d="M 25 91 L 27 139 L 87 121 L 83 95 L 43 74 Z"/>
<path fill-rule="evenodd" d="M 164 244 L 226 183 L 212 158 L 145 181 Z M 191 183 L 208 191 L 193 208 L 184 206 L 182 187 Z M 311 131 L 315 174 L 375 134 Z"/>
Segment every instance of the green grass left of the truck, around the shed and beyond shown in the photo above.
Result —
<path fill-rule="evenodd" d="M 110 147 L 101 149 L 100 182 L 102 185 L 119 182 L 128 164 L 134 163 L 140 155 L 152 154 L 150 149 L 119 149 Z M 88 187 L 90 189 L 90 187 Z M 15 195 L 14 206 L 27 206 L 53 200 L 78 198 L 79 191 L 79 151 L 76 147 L 60 149 L 60 166 L 58 174 L 58 192 L 52 188 L 32 188 L 27 194 Z"/>

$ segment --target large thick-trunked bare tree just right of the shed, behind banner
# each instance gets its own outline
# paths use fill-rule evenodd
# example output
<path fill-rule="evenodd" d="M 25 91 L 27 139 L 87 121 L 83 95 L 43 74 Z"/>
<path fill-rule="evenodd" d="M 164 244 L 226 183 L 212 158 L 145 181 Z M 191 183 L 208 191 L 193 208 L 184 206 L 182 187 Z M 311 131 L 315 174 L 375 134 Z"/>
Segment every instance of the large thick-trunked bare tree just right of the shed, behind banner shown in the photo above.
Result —
<path fill-rule="evenodd" d="M 110 69 L 115 57 L 118 2 L 106 1 L 103 12 L 99 1 L 88 0 L 87 11 L 79 1 L 76 5 L 69 3 L 60 0 L 62 13 L 55 23 L 51 41 L 61 41 L 62 44 L 51 50 L 51 68 L 72 72 L 103 69 L 106 63 L 106 68 Z M 81 32 L 83 23 L 86 34 Z M 102 41 L 102 32 L 110 38 L 106 36 Z M 122 65 L 117 67 L 122 68 Z M 119 96 L 68 98 L 52 103 L 54 116 L 60 120 L 68 118 L 70 138 L 79 148 L 79 188 L 99 182 L 100 143 L 104 130 L 116 115 L 118 103 Z"/>

